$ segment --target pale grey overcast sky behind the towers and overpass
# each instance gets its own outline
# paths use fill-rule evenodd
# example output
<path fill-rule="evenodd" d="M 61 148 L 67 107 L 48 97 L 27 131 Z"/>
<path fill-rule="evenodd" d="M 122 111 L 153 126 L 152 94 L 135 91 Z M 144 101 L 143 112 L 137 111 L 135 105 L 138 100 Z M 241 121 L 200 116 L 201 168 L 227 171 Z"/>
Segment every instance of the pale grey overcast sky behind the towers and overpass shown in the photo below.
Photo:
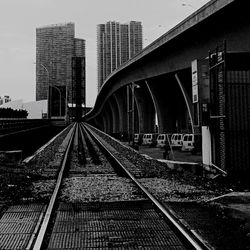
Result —
<path fill-rule="evenodd" d="M 36 28 L 74 22 L 86 40 L 87 105 L 97 95 L 96 26 L 141 21 L 144 47 L 209 0 L 0 0 L 0 96 L 35 100 Z"/>

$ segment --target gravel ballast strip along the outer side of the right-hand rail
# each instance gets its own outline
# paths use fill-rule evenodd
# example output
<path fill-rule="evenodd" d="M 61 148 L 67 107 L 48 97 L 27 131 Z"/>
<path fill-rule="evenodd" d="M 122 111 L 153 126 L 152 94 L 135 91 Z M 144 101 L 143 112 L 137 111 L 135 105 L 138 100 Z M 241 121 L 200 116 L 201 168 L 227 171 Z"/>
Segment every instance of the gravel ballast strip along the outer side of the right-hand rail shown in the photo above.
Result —
<path fill-rule="evenodd" d="M 217 185 L 189 172 L 169 169 L 166 163 L 146 158 L 109 135 L 92 127 L 91 129 L 97 133 L 99 139 L 102 139 L 103 144 L 131 169 L 131 172 L 140 170 L 138 180 L 149 192 L 164 201 L 202 202 L 227 192 L 223 185 Z"/>

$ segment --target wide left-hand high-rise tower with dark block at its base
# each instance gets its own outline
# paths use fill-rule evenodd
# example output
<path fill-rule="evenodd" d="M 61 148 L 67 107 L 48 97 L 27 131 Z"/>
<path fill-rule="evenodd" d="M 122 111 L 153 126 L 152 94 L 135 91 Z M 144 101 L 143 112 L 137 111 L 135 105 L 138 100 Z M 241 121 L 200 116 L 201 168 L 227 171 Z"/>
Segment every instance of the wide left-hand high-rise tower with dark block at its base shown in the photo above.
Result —
<path fill-rule="evenodd" d="M 85 40 L 75 38 L 74 23 L 54 24 L 36 29 L 36 100 L 48 100 L 48 116 L 66 115 L 74 96 L 72 58 L 85 61 Z M 85 75 L 85 65 L 83 68 Z M 85 77 L 82 79 L 85 102 Z"/>

